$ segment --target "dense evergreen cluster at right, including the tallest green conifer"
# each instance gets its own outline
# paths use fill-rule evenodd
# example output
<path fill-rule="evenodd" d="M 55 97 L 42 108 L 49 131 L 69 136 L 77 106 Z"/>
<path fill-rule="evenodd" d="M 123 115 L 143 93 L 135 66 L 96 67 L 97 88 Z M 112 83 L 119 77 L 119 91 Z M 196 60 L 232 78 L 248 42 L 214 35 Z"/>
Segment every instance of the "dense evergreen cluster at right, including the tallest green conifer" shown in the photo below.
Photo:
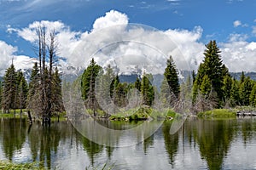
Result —
<path fill-rule="evenodd" d="M 210 41 L 206 48 L 205 58 L 199 65 L 197 74 L 193 74 L 195 111 L 236 105 L 256 106 L 256 82 L 245 77 L 243 71 L 240 80 L 230 76 L 216 41 Z"/>

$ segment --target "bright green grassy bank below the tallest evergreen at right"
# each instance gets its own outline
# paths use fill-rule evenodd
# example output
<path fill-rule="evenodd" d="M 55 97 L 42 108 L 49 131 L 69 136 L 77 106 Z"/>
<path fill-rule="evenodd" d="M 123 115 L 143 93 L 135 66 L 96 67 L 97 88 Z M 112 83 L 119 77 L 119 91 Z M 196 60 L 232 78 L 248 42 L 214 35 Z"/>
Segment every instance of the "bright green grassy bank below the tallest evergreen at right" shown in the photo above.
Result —
<path fill-rule="evenodd" d="M 198 117 L 207 118 L 207 117 L 215 117 L 215 118 L 236 118 L 236 111 L 229 109 L 214 109 L 212 111 L 200 112 L 197 114 Z"/>

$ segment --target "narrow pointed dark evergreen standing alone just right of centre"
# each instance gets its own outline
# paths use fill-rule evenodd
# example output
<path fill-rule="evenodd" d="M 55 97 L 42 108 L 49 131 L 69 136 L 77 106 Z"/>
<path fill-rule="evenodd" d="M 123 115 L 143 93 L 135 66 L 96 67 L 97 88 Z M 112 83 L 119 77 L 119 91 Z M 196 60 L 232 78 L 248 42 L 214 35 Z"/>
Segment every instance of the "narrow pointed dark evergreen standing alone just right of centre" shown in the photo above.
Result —
<path fill-rule="evenodd" d="M 170 92 L 173 93 L 177 99 L 180 93 L 180 87 L 177 77 L 176 65 L 172 59 L 172 56 L 170 56 L 170 58 L 166 61 L 166 70 L 164 76 L 166 77 L 166 81 L 170 87 Z"/>

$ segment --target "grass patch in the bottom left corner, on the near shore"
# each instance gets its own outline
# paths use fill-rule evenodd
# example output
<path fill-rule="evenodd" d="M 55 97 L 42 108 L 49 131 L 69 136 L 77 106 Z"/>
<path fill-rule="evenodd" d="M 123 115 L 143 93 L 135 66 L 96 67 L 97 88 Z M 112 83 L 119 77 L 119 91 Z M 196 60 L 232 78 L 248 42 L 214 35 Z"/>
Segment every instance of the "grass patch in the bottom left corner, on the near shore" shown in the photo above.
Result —
<path fill-rule="evenodd" d="M 44 169 L 44 168 L 39 168 L 37 166 L 37 163 L 32 162 L 32 163 L 13 163 L 9 161 L 0 161 L 0 169 L 8 169 L 8 170 L 39 170 L 39 169 Z"/>

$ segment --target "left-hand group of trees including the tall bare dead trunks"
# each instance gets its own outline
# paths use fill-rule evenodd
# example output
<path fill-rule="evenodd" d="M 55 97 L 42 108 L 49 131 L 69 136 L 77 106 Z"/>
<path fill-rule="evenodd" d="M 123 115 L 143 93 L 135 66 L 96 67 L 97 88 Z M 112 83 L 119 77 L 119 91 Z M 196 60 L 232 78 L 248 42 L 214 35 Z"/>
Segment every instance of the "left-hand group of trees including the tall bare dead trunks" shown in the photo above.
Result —
<path fill-rule="evenodd" d="M 61 75 L 56 66 L 55 31 L 48 35 L 44 26 L 38 26 L 37 33 L 35 51 L 38 62 L 33 65 L 30 81 L 26 82 L 23 73 L 16 71 L 15 65 L 11 64 L 1 82 L 1 105 L 6 113 L 20 109 L 21 114 L 22 109 L 27 109 L 43 123 L 49 124 L 52 115 L 64 110 Z"/>

